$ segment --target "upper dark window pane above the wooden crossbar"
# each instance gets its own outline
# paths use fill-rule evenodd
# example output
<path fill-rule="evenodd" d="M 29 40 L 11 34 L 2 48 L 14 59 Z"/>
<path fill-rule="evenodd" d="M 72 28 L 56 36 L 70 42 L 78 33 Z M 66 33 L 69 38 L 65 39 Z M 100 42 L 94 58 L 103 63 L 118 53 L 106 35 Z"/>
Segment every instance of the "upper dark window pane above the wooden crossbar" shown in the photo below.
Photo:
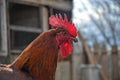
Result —
<path fill-rule="evenodd" d="M 10 25 L 40 27 L 39 7 L 9 3 Z"/>

